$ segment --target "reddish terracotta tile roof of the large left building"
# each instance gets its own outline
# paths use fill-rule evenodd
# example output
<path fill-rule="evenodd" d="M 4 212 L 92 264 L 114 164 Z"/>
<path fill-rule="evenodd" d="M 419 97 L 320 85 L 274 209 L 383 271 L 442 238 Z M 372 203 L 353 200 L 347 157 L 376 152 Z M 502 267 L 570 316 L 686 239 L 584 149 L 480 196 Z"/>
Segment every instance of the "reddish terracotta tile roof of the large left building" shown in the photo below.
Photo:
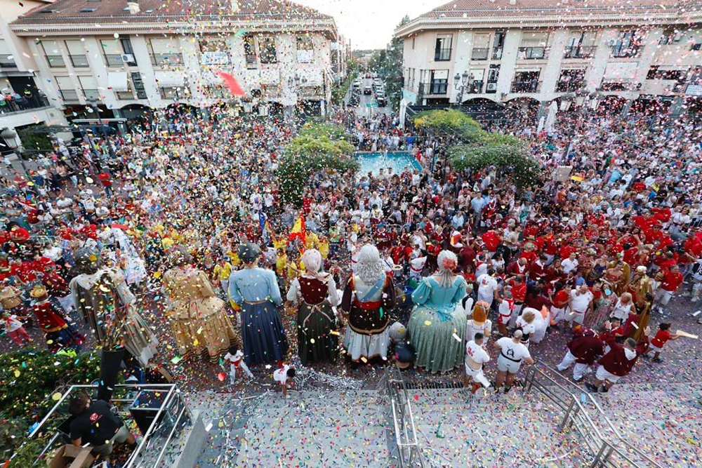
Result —
<path fill-rule="evenodd" d="M 239 11 L 232 13 L 230 0 L 139 0 L 140 13 L 132 15 L 126 0 L 56 0 L 39 6 L 15 20 L 13 25 L 64 25 L 124 22 L 198 22 L 248 21 L 279 22 L 285 20 L 333 20 L 317 10 L 287 0 L 243 0 Z M 88 11 L 95 8 L 94 11 Z"/>

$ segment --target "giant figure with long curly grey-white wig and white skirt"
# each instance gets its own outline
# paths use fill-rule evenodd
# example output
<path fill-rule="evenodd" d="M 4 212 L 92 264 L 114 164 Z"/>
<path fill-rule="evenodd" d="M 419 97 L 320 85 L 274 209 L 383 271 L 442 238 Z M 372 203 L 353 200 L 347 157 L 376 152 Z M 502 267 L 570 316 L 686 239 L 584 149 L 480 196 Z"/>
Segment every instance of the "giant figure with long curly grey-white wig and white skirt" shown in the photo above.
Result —
<path fill-rule="evenodd" d="M 346 282 L 341 309 L 348 314 L 344 347 L 352 361 L 387 359 L 390 311 L 395 307 L 392 274 L 386 274 L 375 246 L 361 248 L 355 274 Z"/>

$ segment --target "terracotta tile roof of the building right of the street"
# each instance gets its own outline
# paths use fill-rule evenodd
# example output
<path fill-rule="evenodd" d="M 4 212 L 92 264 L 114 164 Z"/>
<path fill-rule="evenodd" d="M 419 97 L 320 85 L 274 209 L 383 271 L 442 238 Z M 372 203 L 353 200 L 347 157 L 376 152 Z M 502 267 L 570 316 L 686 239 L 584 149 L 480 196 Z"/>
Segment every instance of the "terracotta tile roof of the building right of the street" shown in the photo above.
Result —
<path fill-rule="evenodd" d="M 661 13 L 671 10 L 700 11 L 699 0 L 453 0 L 420 15 L 420 18 L 509 17 L 524 15 L 611 15 Z"/>

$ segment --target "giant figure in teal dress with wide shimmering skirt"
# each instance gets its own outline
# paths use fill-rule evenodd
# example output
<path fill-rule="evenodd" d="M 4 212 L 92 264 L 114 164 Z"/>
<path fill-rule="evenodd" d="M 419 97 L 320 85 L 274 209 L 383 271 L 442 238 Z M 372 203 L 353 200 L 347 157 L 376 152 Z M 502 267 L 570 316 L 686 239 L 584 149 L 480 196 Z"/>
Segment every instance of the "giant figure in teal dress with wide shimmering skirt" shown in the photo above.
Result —
<path fill-rule="evenodd" d="M 465 358 L 465 296 L 463 276 L 453 274 L 456 255 L 448 250 L 437 258 L 439 270 L 425 277 L 412 293 L 415 305 L 409 317 L 410 342 L 417 352 L 416 365 L 432 373 L 463 365 Z"/>

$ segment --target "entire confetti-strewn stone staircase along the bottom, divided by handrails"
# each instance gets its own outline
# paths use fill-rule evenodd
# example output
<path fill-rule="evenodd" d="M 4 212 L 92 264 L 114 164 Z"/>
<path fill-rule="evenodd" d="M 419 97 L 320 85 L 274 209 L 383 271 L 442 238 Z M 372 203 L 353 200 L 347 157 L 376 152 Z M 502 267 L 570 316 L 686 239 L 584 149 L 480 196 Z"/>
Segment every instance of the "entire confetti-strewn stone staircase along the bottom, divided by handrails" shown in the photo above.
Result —
<path fill-rule="evenodd" d="M 625 385 L 597 394 L 623 439 L 661 467 L 702 466 L 702 387 Z M 578 396 L 578 389 L 569 391 Z M 427 467 L 589 467 L 594 454 L 574 429 L 559 432 L 564 412 L 540 392 L 508 394 L 461 388 L 407 390 Z M 376 390 L 314 389 L 251 396 L 202 394 L 209 437 L 197 467 L 397 467 L 387 396 Z M 595 406 L 581 398 L 588 413 Z M 613 433 L 603 417 L 596 422 Z M 614 458 L 613 467 L 633 467 Z M 640 462 L 640 460 L 635 460 Z M 640 464 L 651 467 L 651 464 Z"/>

